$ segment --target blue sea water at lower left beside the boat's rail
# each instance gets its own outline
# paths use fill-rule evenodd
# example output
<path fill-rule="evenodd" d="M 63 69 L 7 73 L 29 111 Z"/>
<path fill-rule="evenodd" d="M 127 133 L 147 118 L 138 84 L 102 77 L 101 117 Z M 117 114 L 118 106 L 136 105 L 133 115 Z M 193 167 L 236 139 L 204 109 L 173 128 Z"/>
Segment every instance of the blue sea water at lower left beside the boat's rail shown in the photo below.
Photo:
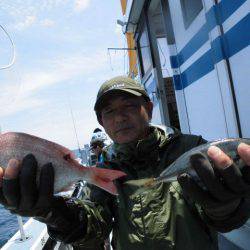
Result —
<path fill-rule="evenodd" d="M 23 218 L 23 222 L 28 219 Z M 16 215 L 11 214 L 8 210 L 0 205 L 0 248 L 11 238 L 18 230 Z"/>

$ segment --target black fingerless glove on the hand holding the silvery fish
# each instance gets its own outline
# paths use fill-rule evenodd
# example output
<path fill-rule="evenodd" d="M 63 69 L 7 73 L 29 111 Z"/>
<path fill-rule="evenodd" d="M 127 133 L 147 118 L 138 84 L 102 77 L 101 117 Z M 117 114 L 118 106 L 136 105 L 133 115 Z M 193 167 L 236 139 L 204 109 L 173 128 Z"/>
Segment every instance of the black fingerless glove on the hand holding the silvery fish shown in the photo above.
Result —
<path fill-rule="evenodd" d="M 250 167 L 240 169 L 232 165 L 218 170 L 201 153 L 190 157 L 203 188 L 188 174 L 178 181 L 186 197 L 198 203 L 208 224 L 220 232 L 243 225 L 250 215 Z"/>

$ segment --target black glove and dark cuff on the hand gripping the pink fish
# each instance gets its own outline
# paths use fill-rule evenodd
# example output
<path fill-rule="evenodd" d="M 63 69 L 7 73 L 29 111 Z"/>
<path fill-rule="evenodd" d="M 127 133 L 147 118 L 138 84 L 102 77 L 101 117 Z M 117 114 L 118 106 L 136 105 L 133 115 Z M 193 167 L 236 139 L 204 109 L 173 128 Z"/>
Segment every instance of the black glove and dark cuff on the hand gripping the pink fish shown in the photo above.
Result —
<path fill-rule="evenodd" d="M 32 154 L 24 157 L 15 179 L 3 178 L 0 203 L 14 214 L 35 217 L 60 234 L 60 240 L 84 236 L 86 215 L 74 199 L 54 196 L 54 169 L 51 163 L 41 168 L 37 187 L 37 161 Z M 2 188 L 1 188 L 2 186 Z M 77 232 L 76 232 L 77 231 Z"/>

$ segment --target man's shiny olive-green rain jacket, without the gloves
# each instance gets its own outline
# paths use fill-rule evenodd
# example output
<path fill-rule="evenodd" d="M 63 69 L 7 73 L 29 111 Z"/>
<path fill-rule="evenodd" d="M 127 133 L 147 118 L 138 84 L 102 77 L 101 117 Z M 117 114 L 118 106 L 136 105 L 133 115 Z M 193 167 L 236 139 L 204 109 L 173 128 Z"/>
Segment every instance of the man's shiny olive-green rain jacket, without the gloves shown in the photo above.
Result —
<path fill-rule="evenodd" d="M 82 249 L 97 245 L 111 230 L 116 249 L 218 249 L 217 233 L 205 223 L 199 206 L 183 196 L 178 182 L 159 183 L 143 192 L 124 184 L 159 176 L 184 152 L 206 142 L 200 136 L 150 129 L 145 140 L 114 144 L 112 153 L 106 155 L 105 167 L 127 174 L 126 179 L 116 181 L 117 197 L 92 186 L 89 201 L 75 202 L 84 211 L 86 230 L 67 238 Z M 56 232 L 50 230 L 50 234 Z"/>

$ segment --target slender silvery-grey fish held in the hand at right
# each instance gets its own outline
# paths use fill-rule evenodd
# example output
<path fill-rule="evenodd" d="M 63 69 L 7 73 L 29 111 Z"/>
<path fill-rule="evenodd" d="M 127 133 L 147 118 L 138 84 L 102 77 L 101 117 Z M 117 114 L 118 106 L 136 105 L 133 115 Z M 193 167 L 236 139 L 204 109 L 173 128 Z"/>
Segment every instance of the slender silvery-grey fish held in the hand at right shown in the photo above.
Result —
<path fill-rule="evenodd" d="M 183 173 L 187 173 L 196 179 L 198 184 L 202 186 L 199 177 L 197 176 L 195 170 L 192 168 L 190 163 L 190 156 L 196 153 L 202 153 L 206 156 L 208 148 L 210 146 L 216 146 L 220 148 L 225 154 L 227 154 L 239 168 L 244 166 L 243 161 L 240 159 L 237 148 L 240 143 L 245 143 L 250 145 L 250 139 L 248 138 L 236 138 L 236 139 L 224 139 L 213 142 L 208 142 L 206 144 L 202 144 L 198 147 L 192 148 L 186 153 L 182 154 L 178 159 L 176 159 L 172 164 L 170 164 L 160 175 L 156 178 L 145 178 L 139 180 L 130 180 L 125 184 L 148 188 L 159 182 L 172 182 L 176 181 L 177 177 Z"/>

